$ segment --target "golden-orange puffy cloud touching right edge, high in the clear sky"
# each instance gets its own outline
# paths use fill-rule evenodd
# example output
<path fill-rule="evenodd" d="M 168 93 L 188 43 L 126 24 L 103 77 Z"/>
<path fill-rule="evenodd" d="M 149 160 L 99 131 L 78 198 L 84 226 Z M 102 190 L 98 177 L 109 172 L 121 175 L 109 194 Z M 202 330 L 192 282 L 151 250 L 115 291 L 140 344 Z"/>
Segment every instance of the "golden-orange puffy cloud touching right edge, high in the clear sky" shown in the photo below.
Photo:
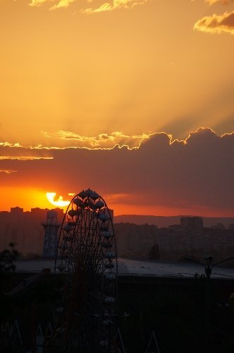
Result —
<path fill-rule="evenodd" d="M 227 32 L 234 35 L 234 11 L 222 15 L 204 16 L 194 25 L 195 30 L 209 33 Z"/>

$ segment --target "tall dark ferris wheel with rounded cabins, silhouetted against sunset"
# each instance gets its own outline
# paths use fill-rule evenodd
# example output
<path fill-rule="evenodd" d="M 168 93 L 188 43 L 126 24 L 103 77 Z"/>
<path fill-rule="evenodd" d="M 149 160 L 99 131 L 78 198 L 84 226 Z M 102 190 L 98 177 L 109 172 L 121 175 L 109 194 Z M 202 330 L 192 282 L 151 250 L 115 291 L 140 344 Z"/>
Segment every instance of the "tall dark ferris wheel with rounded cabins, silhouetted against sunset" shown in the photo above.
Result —
<path fill-rule="evenodd" d="M 112 218 L 90 189 L 68 205 L 54 265 L 55 273 L 66 274 L 55 309 L 54 352 L 111 352 L 118 277 Z"/>

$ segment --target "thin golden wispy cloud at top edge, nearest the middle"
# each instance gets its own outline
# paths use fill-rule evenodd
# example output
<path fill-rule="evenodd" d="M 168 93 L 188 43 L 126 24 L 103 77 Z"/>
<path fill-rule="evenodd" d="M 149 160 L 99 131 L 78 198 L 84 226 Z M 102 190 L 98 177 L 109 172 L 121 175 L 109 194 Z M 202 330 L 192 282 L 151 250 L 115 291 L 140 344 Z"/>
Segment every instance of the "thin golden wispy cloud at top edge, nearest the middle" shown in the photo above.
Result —
<path fill-rule="evenodd" d="M 113 0 L 111 3 L 105 2 L 96 8 L 85 8 L 82 9 L 81 13 L 99 13 L 106 11 L 117 10 L 118 8 L 133 8 L 137 5 L 142 5 L 146 3 L 147 0 Z"/>

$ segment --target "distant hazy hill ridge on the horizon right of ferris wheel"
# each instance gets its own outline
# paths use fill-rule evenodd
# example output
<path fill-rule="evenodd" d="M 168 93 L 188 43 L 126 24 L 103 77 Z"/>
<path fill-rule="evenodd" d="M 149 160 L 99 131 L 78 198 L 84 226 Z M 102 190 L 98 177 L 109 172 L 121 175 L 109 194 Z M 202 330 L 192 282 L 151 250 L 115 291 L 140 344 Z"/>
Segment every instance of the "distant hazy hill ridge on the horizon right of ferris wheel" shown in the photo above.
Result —
<path fill-rule="evenodd" d="M 147 215 L 119 215 L 114 216 L 114 223 L 134 223 L 135 225 L 157 225 L 159 228 L 168 227 L 169 225 L 180 225 L 180 217 L 192 216 L 147 216 Z M 234 223 L 234 217 L 203 217 L 204 227 L 211 227 L 217 223 L 223 223 L 228 227 Z"/>

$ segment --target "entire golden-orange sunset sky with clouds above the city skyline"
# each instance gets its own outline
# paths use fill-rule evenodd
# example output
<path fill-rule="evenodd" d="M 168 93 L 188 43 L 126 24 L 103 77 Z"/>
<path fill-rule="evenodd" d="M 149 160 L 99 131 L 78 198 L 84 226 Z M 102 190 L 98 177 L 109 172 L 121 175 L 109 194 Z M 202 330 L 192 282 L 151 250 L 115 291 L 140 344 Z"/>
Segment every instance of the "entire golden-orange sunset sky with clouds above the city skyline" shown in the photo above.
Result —
<path fill-rule="evenodd" d="M 234 0 L 0 0 L 0 210 L 234 217 Z"/>

